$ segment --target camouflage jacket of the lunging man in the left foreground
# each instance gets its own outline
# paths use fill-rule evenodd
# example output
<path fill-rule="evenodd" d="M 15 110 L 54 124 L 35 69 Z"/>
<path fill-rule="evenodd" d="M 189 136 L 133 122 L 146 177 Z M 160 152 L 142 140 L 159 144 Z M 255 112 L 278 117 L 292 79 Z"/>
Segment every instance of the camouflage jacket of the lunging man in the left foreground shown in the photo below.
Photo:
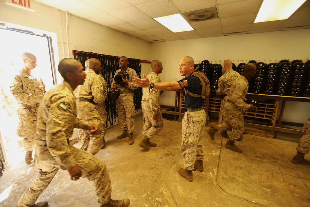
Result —
<path fill-rule="evenodd" d="M 37 161 L 48 161 L 63 170 L 76 165 L 76 150 L 69 145 L 73 128 L 87 130 L 87 122 L 77 117 L 75 97 L 68 82 L 51 88 L 43 97 L 37 120 Z"/>

